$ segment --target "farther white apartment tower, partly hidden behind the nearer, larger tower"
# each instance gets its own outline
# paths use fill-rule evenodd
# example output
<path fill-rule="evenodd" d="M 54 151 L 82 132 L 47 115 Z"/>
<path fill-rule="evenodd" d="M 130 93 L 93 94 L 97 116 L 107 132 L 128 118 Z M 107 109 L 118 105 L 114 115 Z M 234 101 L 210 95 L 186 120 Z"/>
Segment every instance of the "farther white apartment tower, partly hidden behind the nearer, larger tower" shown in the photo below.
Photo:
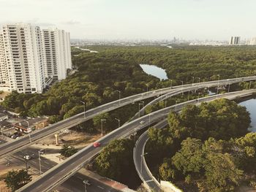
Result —
<path fill-rule="evenodd" d="M 45 49 L 45 77 L 64 80 L 72 68 L 69 33 L 57 28 L 43 29 Z"/>

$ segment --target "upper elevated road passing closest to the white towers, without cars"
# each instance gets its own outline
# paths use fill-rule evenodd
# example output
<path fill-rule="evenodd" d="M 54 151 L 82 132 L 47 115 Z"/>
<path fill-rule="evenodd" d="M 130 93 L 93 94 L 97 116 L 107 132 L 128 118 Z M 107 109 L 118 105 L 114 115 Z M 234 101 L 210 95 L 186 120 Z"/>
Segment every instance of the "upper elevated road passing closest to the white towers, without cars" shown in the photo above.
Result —
<path fill-rule="evenodd" d="M 210 86 L 217 86 L 222 84 L 232 84 L 235 82 L 241 81 L 249 81 L 249 80 L 256 80 L 256 76 L 252 77 L 239 77 L 235 79 L 228 79 L 228 80 L 217 80 L 217 81 L 210 81 L 210 82 L 201 82 L 200 85 L 204 85 L 207 87 Z M 199 84 L 198 84 L 199 85 Z M 140 93 L 134 96 L 129 96 L 124 99 L 112 101 L 108 104 L 103 104 L 99 107 L 95 107 L 94 109 L 88 110 L 85 113 L 80 113 L 78 115 L 74 115 L 71 118 L 67 118 L 65 120 L 61 120 L 58 123 L 54 123 L 46 128 L 39 129 L 34 131 L 33 133 L 20 137 L 20 139 L 15 140 L 14 142 L 8 142 L 5 145 L 0 146 L 0 158 L 7 157 L 13 153 L 18 152 L 22 148 L 25 148 L 39 140 L 50 136 L 51 134 L 58 133 L 62 129 L 72 128 L 73 126 L 79 125 L 86 120 L 93 118 L 96 115 L 99 115 L 102 112 L 109 112 L 111 110 L 115 110 L 119 107 L 123 107 L 127 104 L 134 103 L 135 101 L 140 101 L 143 99 L 148 99 L 154 96 L 160 96 L 165 93 L 174 92 L 177 89 L 184 91 L 185 88 L 196 88 L 196 84 L 187 84 L 187 85 L 179 85 L 173 88 L 162 88 L 155 91 L 148 91 L 146 93 Z M 30 137 L 30 138 L 29 138 Z"/>

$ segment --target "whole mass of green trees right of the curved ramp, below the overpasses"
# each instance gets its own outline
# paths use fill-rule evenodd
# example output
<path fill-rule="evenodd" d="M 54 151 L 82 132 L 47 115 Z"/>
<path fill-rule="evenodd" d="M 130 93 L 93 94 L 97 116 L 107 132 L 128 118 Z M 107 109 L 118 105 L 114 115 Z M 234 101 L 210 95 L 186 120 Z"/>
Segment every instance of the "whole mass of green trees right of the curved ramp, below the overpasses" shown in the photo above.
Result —
<path fill-rule="evenodd" d="M 256 134 L 249 112 L 219 99 L 170 112 L 169 126 L 149 128 L 146 160 L 154 175 L 184 191 L 233 191 L 254 186 Z"/>

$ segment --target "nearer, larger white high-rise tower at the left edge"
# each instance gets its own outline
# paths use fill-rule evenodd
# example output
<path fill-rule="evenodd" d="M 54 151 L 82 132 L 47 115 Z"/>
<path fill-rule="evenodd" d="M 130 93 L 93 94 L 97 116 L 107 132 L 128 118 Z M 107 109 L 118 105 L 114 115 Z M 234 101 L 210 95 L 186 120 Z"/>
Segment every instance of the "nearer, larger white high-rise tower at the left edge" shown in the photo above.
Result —
<path fill-rule="evenodd" d="M 4 58 L 0 53 L 1 77 L 10 91 L 42 93 L 45 74 L 40 28 L 26 23 L 4 25 L 0 42 L 4 50 Z"/>

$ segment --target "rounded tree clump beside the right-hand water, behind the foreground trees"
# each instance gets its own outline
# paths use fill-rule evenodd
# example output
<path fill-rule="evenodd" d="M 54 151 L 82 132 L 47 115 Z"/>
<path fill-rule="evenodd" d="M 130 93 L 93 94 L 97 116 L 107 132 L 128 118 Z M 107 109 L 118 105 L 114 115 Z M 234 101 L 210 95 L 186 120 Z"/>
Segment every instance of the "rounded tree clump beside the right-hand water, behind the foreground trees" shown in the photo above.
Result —
<path fill-rule="evenodd" d="M 170 112 L 168 116 L 173 137 L 185 139 L 230 139 L 246 134 L 251 120 L 249 112 L 236 102 L 219 99 L 200 106 L 187 105 L 180 114 Z"/>

